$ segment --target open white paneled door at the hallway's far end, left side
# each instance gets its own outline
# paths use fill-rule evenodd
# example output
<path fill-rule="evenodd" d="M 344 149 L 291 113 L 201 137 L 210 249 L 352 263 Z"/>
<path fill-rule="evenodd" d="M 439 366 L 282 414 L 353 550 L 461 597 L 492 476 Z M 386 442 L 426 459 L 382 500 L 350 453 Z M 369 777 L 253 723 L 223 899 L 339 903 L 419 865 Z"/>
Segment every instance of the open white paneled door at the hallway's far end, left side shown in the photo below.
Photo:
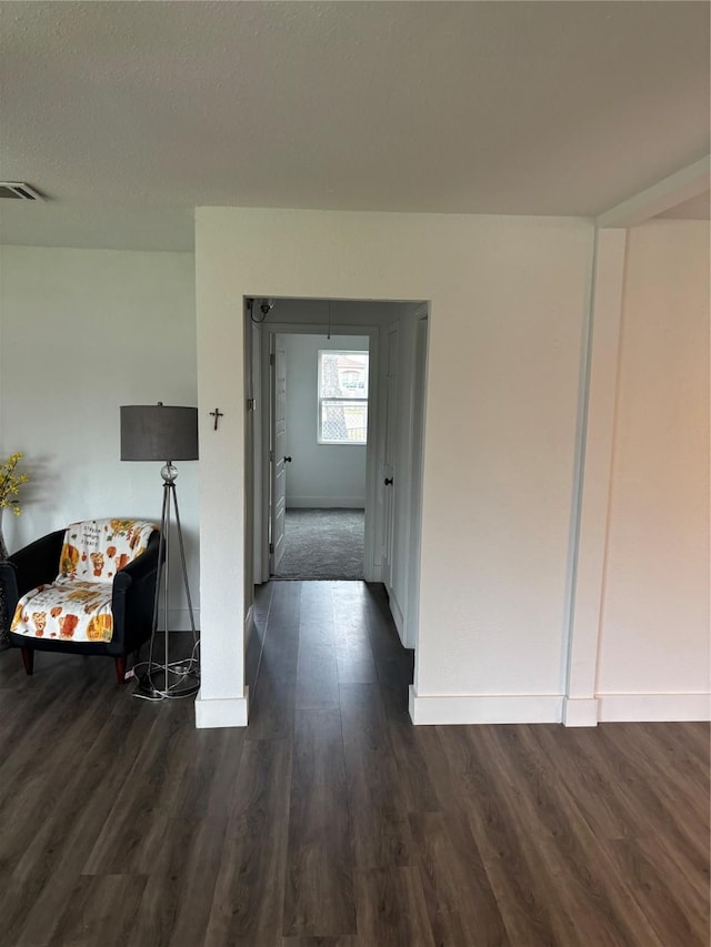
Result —
<path fill-rule="evenodd" d="M 283 345 L 271 336 L 273 351 L 270 356 L 271 385 L 271 444 L 269 462 L 271 469 L 271 503 L 269 536 L 269 570 L 273 575 L 284 553 L 284 524 L 287 517 L 287 354 Z"/>

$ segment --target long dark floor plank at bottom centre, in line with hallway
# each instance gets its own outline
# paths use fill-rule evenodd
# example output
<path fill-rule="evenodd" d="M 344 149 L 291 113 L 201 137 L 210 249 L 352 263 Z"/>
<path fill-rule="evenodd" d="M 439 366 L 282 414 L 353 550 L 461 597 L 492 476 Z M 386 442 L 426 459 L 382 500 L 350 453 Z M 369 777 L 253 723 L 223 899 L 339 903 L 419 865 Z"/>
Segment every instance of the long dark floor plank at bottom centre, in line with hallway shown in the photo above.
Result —
<path fill-rule="evenodd" d="M 283 935 L 357 933 L 340 717 L 298 712 Z"/>

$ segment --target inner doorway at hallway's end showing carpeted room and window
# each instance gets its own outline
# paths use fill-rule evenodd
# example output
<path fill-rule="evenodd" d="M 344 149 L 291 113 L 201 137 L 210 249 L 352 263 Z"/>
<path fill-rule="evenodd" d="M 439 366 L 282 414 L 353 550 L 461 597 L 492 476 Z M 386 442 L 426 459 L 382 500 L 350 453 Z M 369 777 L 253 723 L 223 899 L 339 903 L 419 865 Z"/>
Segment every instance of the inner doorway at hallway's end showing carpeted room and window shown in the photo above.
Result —
<path fill-rule="evenodd" d="M 270 363 L 270 576 L 363 580 L 370 338 L 274 333 Z"/>

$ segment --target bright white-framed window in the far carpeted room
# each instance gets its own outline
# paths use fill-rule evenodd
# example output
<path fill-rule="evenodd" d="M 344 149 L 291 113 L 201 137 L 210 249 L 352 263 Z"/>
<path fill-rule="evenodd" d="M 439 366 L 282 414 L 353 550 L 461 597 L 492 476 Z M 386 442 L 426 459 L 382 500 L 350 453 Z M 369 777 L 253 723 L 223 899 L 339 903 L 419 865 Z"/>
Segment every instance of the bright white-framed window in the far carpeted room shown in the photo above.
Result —
<path fill-rule="evenodd" d="M 319 444 L 368 440 L 368 352 L 319 350 Z"/>

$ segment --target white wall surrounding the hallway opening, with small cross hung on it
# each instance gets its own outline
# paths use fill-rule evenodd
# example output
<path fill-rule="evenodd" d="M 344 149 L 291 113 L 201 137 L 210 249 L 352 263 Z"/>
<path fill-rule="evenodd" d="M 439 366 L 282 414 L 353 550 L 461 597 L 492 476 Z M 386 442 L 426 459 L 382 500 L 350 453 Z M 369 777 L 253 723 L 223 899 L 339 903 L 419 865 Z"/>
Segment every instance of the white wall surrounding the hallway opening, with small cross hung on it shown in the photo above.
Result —
<path fill-rule="evenodd" d="M 420 722 L 560 719 L 582 328 L 580 220 L 200 208 L 201 404 L 243 403 L 244 296 L 430 300 Z M 199 725 L 244 719 L 244 414 L 201 436 Z M 232 528 L 224 530 L 224 522 Z"/>

